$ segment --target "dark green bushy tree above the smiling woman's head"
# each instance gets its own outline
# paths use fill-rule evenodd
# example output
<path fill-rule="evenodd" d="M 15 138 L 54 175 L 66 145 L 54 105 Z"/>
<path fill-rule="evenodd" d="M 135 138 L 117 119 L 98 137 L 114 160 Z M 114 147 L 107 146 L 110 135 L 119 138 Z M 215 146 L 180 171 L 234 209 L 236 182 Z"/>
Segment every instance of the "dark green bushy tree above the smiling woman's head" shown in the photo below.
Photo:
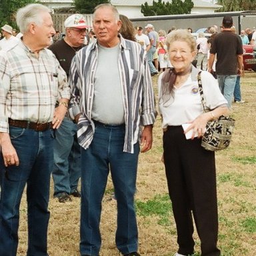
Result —
<path fill-rule="evenodd" d="M 171 14 L 188 14 L 194 7 L 192 0 L 172 0 L 165 3 L 162 0 L 153 1 L 153 5 L 145 2 L 141 5 L 141 13 L 144 16 L 171 15 Z"/>

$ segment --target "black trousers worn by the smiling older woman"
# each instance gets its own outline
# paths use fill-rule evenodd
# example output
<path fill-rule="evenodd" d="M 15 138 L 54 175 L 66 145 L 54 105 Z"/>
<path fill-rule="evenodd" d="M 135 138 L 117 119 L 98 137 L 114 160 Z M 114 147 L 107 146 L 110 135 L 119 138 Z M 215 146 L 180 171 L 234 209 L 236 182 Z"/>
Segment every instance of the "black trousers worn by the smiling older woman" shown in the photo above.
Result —
<path fill-rule="evenodd" d="M 181 126 L 163 134 L 163 157 L 178 253 L 192 254 L 193 218 L 201 240 L 202 256 L 219 256 L 215 153 L 201 147 L 201 139 L 186 139 Z"/>

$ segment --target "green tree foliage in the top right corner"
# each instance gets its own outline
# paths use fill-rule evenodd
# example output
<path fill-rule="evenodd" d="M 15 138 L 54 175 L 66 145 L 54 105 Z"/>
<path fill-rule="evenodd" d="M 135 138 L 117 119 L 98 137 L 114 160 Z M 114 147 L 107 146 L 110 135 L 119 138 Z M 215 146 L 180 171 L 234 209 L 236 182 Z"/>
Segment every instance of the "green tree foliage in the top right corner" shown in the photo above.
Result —
<path fill-rule="evenodd" d="M 220 11 L 248 11 L 256 9 L 255 0 L 219 0 L 218 5 L 222 5 Z"/>

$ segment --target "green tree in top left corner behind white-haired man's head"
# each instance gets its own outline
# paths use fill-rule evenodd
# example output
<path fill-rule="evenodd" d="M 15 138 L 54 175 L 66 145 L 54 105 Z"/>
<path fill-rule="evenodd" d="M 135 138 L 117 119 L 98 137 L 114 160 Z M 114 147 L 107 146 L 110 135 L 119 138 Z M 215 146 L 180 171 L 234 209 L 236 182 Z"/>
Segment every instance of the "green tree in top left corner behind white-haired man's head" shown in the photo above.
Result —
<path fill-rule="evenodd" d="M 17 24 L 15 22 L 15 15 L 17 9 L 24 7 L 29 3 L 38 3 L 37 0 L 1 0 L 0 5 L 0 24 L 1 27 L 3 25 L 8 24 L 13 28 L 17 28 Z"/>

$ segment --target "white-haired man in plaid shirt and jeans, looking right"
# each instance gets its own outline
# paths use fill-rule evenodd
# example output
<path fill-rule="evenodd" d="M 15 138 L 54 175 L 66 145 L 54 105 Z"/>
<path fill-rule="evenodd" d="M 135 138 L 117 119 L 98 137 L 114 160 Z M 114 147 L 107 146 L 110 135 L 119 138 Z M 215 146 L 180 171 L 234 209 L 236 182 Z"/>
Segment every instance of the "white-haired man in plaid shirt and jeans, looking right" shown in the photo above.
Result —
<path fill-rule="evenodd" d="M 53 129 L 65 116 L 70 88 L 55 55 L 45 49 L 55 34 L 49 9 L 27 5 L 17 12 L 17 24 L 23 39 L 0 53 L 0 256 L 17 255 L 25 185 L 27 256 L 47 256 Z"/>

